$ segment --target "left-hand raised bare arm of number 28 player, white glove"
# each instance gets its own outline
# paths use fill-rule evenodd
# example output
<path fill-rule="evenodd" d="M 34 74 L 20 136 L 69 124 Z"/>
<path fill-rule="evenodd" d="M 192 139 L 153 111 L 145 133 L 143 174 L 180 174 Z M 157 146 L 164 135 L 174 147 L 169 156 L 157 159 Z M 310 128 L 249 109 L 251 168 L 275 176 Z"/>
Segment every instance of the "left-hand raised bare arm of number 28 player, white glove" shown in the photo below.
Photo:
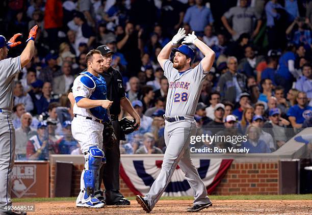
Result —
<path fill-rule="evenodd" d="M 161 52 L 159 53 L 157 60 L 159 62 L 159 64 L 161 65 L 161 67 L 164 70 L 164 64 L 165 62 L 169 59 L 170 57 L 170 53 L 171 53 L 171 49 L 176 46 L 176 44 L 185 37 L 185 30 L 184 28 L 179 29 L 178 33 L 176 35 L 173 36 L 172 40 L 167 43 L 165 45 L 165 47 L 163 47 L 163 49 L 161 50 Z"/>

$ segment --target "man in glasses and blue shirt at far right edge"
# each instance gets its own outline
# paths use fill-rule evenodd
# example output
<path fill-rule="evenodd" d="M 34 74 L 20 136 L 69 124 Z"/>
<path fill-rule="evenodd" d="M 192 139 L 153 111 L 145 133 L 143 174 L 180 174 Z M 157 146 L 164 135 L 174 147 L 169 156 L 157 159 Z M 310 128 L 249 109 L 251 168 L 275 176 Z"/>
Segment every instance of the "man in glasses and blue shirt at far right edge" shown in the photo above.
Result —
<path fill-rule="evenodd" d="M 307 97 L 305 92 L 299 92 L 297 96 L 298 104 L 291 106 L 287 112 L 289 121 L 294 128 L 301 128 L 305 117 L 309 117 L 312 107 L 307 105 Z"/>

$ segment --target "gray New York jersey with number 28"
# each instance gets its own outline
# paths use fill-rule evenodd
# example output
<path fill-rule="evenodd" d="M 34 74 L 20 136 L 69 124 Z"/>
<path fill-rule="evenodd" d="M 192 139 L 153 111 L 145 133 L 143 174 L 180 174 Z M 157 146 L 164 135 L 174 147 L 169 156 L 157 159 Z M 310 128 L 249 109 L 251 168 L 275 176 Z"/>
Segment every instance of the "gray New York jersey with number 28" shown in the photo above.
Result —
<path fill-rule="evenodd" d="M 164 64 L 164 75 L 169 89 L 166 103 L 166 116 L 194 116 L 205 75 L 201 62 L 194 68 L 178 72 L 173 63 Z"/>

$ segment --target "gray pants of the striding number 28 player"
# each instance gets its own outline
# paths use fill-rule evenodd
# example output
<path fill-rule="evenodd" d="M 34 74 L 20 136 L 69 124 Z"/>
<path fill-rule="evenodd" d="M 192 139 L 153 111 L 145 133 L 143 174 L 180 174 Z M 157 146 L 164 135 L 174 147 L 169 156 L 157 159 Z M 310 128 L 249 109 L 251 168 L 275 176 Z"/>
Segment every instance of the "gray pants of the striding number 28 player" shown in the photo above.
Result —
<path fill-rule="evenodd" d="M 192 164 L 190 157 L 190 138 L 196 135 L 196 121 L 165 121 L 165 123 L 165 144 L 167 149 L 164 154 L 162 169 L 152 184 L 149 193 L 145 196 L 150 209 L 161 198 L 177 165 L 184 172 L 194 193 L 193 203 L 210 203 L 211 201 L 207 197 L 206 187 L 199 177 L 196 167 Z"/>

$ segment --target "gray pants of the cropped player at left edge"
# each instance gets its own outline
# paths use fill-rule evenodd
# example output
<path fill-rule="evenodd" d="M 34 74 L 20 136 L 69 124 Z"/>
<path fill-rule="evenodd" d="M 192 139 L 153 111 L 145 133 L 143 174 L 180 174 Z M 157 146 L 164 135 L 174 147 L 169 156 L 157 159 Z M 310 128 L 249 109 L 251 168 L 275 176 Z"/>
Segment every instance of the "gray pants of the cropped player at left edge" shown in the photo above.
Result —
<path fill-rule="evenodd" d="M 26 147 L 26 146 L 25 146 Z M 15 128 L 11 114 L 0 113 L 0 214 L 12 205 L 11 174 L 15 156 Z"/>

